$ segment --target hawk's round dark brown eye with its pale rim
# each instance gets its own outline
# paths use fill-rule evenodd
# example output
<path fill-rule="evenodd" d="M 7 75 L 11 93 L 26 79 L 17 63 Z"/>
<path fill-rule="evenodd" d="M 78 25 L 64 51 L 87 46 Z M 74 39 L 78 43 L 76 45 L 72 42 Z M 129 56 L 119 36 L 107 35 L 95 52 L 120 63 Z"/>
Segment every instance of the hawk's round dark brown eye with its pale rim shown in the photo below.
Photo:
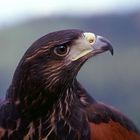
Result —
<path fill-rule="evenodd" d="M 69 47 L 66 45 L 60 45 L 54 48 L 54 53 L 58 56 L 66 56 L 68 52 L 69 52 Z"/>

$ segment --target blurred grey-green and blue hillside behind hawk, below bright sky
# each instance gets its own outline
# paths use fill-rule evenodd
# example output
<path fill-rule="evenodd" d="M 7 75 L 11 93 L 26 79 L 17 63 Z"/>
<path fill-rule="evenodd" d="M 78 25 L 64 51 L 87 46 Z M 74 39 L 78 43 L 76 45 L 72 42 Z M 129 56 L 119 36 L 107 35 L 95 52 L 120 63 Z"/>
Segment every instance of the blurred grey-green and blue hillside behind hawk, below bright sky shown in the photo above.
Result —
<path fill-rule="evenodd" d="M 89 60 L 78 79 L 92 96 L 113 105 L 140 128 L 140 12 L 127 15 L 50 17 L 0 29 L 0 96 L 4 97 L 14 70 L 33 41 L 55 30 L 79 28 L 108 38 L 114 56 Z"/>

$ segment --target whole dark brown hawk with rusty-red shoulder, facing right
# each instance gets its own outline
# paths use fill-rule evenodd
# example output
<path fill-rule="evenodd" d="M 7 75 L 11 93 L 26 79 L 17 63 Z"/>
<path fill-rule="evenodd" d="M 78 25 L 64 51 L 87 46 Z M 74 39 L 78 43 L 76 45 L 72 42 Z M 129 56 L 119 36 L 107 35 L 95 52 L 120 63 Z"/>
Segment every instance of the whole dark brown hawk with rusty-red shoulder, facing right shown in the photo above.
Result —
<path fill-rule="evenodd" d="M 0 140 L 140 140 L 134 123 L 93 99 L 76 79 L 113 48 L 78 29 L 49 33 L 26 51 L 0 105 Z"/>

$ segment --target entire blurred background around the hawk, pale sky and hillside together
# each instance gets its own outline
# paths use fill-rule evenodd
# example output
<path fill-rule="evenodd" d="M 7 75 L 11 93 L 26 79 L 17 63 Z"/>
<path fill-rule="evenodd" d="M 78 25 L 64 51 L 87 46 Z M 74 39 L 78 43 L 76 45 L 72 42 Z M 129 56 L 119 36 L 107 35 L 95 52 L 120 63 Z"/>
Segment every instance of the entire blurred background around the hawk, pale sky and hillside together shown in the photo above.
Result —
<path fill-rule="evenodd" d="M 115 106 L 140 128 L 139 0 L 0 0 L 0 97 L 26 49 L 39 37 L 68 28 L 112 42 L 114 56 L 90 59 L 78 79 L 95 99 Z"/>

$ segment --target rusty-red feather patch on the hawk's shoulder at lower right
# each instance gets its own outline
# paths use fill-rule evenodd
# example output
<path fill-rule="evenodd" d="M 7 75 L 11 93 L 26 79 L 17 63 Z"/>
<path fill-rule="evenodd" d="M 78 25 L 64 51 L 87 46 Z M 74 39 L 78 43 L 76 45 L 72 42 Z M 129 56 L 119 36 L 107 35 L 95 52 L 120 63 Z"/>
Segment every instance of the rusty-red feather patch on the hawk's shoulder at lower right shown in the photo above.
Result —
<path fill-rule="evenodd" d="M 140 140 L 140 135 L 129 131 L 118 122 L 89 123 L 91 140 Z"/>

